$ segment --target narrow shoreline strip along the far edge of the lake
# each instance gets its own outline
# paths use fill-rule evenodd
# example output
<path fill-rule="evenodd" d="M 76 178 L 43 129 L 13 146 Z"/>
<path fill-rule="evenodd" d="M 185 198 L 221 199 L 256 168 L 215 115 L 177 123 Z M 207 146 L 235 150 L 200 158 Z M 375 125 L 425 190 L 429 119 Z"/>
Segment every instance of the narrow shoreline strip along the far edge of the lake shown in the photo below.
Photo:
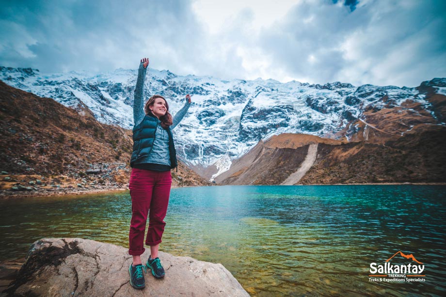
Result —
<path fill-rule="evenodd" d="M 364 183 L 364 184 L 309 184 L 309 185 L 291 185 L 294 186 L 398 186 L 398 185 L 413 185 L 413 186 L 446 186 L 446 183 Z M 172 188 L 190 188 L 190 187 L 215 187 L 215 186 L 284 186 L 289 185 L 212 185 L 212 186 L 172 186 Z M 31 198 L 31 197 L 48 197 L 48 196 L 78 196 L 90 194 L 105 194 L 105 193 L 120 193 L 128 191 L 128 187 L 110 187 L 110 188 L 54 188 L 42 189 L 35 191 L 11 191 L 0 190 L 0 199 L 11 198 Z"/>

